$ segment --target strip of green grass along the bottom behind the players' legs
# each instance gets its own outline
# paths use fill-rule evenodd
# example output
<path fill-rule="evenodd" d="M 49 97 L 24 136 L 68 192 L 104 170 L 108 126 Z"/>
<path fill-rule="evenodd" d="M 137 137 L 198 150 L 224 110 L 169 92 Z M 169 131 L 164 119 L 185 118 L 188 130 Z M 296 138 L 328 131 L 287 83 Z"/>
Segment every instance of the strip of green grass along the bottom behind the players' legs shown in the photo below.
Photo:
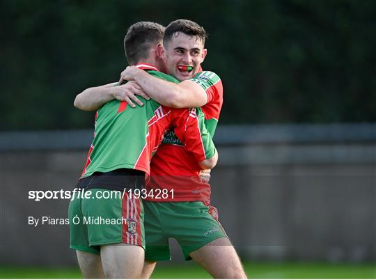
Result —
<path fill-rule="evenodd" d="M 245 263 L 250 278 L 376 279 L 375 264 Z M 81 278 L 78 268 L 0 267 L 1 278 Z M 211 278 L 195 263 L 157 265 L 152 278 Z"/>

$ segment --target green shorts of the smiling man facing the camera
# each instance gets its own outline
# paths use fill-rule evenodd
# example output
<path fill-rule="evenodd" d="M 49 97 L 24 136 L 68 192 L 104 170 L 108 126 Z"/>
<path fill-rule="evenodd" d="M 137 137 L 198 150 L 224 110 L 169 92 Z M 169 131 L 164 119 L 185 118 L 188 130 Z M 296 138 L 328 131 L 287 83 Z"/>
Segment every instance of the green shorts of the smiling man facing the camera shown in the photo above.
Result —
<path fill-rule="evenodd" d="M 171 260 L 169 238 L 178 241 L 185 260 L 198 248 L 227 238 L 217 209 L 201 201 L 143 201 L 145 208 L 146 260 Z"/>

